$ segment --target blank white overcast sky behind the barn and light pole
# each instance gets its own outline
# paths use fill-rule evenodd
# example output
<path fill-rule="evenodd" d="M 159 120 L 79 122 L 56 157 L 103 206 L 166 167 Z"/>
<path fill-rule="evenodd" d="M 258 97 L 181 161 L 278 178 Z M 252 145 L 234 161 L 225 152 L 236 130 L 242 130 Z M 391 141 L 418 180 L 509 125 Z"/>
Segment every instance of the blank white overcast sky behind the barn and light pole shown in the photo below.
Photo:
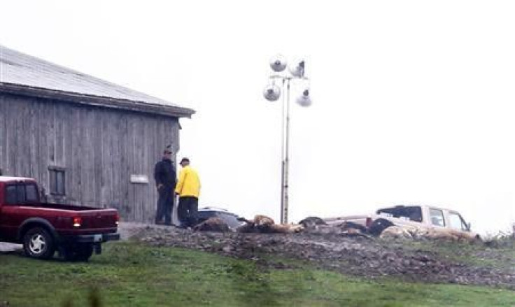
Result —
<path fill-rule="evenodd" d="M 194 108 L 178 157 L 201 206 L 276 220 L 281 105 L 262 90 L 271 56 L 304 57 L 290 221 L 431 204 L 485 232 L 515 222 L 514 16 L 513 1 L 0 0 L 0 43 Z"/>

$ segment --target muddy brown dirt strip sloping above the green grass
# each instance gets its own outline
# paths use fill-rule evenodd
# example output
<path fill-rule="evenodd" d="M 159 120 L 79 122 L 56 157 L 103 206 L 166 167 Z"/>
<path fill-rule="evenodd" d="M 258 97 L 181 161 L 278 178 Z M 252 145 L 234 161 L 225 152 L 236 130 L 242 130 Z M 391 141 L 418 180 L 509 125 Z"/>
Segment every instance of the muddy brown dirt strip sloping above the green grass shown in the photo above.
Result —
<path fill-rule="evenodd" d="M 515 290 L 514 253 L 505 255 L 501 249 L 487 248 L 483 243 L 476 243 L 477 248 L 472 249 L 472 254 L 470 248 L 464 248 L 467 252 L 459 255 L 460 249 L 456 248 L 458 255 L 456 252 L 453 255 L 456 256 L 453 259 L 467 257 L 467 260 L 475 258 L 481 261 L 458 262 L 432 248 L 414 248 L 413 241 L 348 236 L 338 231 L 240 234 L 122 223 L 120 234 L 124 239 L 133 238 L 150 245 L 216 252 L 278 269 L 288 269 L 291 266 L 284 259 L 295 258 L 320 268 L 363 278 L 391 276 L 417 282 L 492 285 Z"/>

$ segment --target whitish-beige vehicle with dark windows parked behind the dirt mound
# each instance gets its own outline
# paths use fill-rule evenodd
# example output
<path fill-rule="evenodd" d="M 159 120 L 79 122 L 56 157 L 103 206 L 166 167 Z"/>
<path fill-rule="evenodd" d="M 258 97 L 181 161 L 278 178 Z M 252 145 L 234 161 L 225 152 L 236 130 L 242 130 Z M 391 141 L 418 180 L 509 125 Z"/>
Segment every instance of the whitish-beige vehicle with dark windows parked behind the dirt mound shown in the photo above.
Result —
<path fill-rule="evenodd" d="M 372 215 L 348 215 L 323 219 L 327 224 L 353 222 L 370 227 L 378 219 L 392 222 L 395 226 L 416 227 L 417 229 L 452 230 L 476 236 L 470 229 L 470 223 L 455 210 L 434 206 L 394 206 L 381 208 Z"/>

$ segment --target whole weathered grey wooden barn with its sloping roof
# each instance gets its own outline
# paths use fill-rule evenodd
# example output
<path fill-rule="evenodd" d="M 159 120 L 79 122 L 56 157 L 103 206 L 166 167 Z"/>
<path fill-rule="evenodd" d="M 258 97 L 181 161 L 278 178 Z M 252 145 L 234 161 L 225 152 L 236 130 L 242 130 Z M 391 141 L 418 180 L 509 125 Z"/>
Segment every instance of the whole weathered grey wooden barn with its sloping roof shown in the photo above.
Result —
<path fill-rule="evenodd" d="M 0 45 L 0 173 L 36 178 L 48 202 L 153 221 L 155 162 L 193 113 Z"/>

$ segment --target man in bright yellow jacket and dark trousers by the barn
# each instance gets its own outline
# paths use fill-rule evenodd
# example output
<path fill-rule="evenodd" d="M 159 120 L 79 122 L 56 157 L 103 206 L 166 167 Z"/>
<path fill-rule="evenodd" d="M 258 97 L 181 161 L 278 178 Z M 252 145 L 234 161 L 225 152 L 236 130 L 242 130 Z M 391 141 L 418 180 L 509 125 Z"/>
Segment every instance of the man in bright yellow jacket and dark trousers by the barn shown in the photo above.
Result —
<path fill-rule="evenodd" d="M 179 163 L 183 166 L 175 188 L 179 196 L 177 218 L 182 228 L 197 224 L 199 209 L 200 179 L 199 174 L 190 166 L 190 159 L 183 158 Z"/>

